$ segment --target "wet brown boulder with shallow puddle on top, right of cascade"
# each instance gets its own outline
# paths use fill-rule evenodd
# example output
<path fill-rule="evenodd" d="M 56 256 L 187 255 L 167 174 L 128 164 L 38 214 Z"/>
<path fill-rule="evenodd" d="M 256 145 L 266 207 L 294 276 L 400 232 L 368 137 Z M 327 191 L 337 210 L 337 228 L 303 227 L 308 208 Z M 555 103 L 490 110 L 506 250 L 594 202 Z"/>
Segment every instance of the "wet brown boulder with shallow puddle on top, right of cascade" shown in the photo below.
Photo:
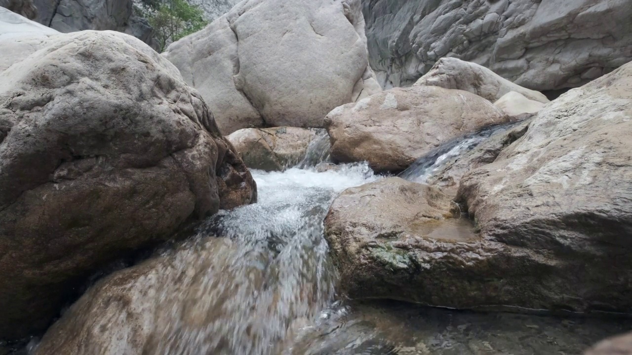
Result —
<path fill-rule="evenodd" d="M 387 178 L 349 188 L 325 217 L 341 291 L 355 299 L 475 308 L 528 301 L 528 253 L 480 238 L 437 188 Z"/>

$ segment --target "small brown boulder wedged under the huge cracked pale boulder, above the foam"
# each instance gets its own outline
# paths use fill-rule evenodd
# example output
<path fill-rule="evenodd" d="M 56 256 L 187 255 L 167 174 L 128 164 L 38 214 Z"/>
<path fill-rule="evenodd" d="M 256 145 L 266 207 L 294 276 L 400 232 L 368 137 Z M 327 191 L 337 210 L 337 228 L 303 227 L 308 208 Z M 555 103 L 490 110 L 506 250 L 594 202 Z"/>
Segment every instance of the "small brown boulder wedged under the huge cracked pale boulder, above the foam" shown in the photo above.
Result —
<path fill-rule="evenodd" d="M 283 171 L 305 158 L 317 133 L 316 129 L 296 127 L 243 128 L 226 138 L 250 169 Z"/>

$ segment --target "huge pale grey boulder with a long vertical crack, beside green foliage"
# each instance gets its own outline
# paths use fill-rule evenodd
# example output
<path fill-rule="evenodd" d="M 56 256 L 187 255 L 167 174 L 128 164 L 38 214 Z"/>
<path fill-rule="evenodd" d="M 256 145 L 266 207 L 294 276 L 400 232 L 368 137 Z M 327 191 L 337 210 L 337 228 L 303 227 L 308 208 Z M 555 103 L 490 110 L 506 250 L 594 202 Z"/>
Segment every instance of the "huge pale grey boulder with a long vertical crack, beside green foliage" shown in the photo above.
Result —
<path fill-rule="evenodd" d="M 359 0 L 248 0 L 164 55 L 209 103 L 224 135 L 322 127 L 327 112 L 380 89 Z"/>

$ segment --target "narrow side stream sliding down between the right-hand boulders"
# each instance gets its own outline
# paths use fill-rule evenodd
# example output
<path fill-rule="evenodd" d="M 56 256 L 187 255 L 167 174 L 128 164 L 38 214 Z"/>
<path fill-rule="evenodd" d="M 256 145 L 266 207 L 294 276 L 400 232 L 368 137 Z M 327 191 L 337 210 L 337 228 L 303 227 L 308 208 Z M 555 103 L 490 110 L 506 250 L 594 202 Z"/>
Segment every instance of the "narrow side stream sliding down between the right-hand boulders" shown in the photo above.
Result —
<path fill-rule="evenodd" d="M 415 183 L 427 183 L 428 179 L 442 169 L 442 167 L 453 164 L 456 160 L 455 158 L 478 147 L 480 143 L 483 143 L 483 141 L 487 140 L 490 136 L 502 131 L 507 131 L 517 124 L 518 123 L 505 123 L 487 126 L 475 133 L 449 140 L 417 159 L 408 169 L 399 173 L 398 176 L 409 181 L 414 181 Z"/>

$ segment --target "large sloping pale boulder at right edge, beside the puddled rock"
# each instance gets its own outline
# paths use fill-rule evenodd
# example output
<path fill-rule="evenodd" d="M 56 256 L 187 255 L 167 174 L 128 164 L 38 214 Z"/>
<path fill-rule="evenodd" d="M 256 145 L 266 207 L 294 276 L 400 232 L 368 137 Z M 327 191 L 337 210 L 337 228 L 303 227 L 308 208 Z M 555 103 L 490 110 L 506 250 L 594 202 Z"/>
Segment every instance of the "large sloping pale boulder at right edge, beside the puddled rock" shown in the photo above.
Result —
<path fill-rule="evenodd" d="M 457 198 L 483 238 L 534 253 L 525 274 L 551 265 L 526 290 L 540 300 L 530 308 L 632 306 L 631 135 L 632 63 L 551 102 L 461 180 Z"/>

